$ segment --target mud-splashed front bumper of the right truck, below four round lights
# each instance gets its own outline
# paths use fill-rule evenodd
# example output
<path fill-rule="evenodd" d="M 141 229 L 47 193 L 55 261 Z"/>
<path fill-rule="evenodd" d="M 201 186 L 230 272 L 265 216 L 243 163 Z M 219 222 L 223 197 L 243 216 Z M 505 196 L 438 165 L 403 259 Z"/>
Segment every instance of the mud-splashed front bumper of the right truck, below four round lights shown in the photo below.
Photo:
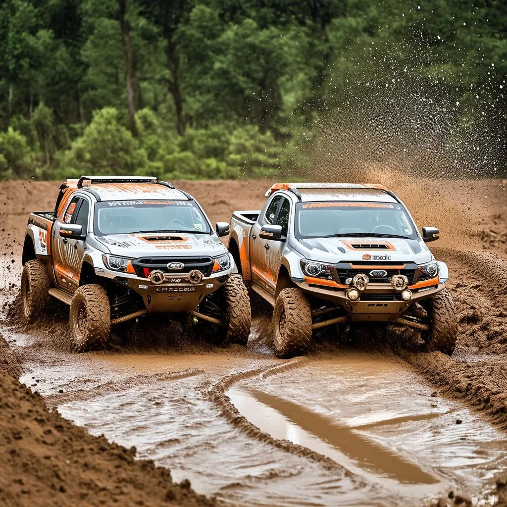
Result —
<path fill-rule="evenodd" d="M 434 285 L 412 288 L 412 299 L 403 301 L 399 296 L 400 293 L 394 291 L 390 284 L 371 283 L 360 293 L 358 301 L 350 301 L 345 295 L 346 288 L 344 287 L 319 285 L 317 281 L 314 283 L 294 281 L 307 294 L 341 306 L 352 321 L 394 320 L 402 315 L 412 303 L 443 291 L 447 285 L 447 281 L 444 283 L 436 281 Z"/>

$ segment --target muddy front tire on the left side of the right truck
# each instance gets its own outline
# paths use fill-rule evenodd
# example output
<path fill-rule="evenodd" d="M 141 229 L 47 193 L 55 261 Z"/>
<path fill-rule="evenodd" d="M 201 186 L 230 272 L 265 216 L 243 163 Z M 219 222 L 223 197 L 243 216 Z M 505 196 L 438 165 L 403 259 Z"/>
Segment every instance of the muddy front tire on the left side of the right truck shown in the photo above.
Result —
<path fill-rule="evenodd" d="M 285 288 L 276 298 L 273 343 L 280 358 L 306 354 L 312 348 L 310 302 L 298 288 Z"/>

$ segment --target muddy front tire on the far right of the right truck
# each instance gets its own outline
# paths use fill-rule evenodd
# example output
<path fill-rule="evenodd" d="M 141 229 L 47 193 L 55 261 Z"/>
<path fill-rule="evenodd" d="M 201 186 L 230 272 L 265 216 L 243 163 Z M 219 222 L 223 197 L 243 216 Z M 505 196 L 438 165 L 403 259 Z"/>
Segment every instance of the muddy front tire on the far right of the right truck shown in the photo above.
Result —
<path fill-rule="evenodd" d="M 424 351 L 452 355 L 458 336 L 458 320 L 451 294 L 444 289 L 428 300 L 424 308 L 430 323 L 429 332 L 422 337 L 425 340 Z"/>

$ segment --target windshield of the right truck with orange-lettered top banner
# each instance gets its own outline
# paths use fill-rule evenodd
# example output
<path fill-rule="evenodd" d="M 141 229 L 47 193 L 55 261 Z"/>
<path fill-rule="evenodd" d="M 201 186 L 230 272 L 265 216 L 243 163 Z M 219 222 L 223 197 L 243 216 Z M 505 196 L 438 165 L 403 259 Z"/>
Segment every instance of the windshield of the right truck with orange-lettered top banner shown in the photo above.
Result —
<path fill-rule="evenodd" d="M 295 232 L 298 238 L 417 238 L 404 207 L 384 202 L 300 202 Z"/>

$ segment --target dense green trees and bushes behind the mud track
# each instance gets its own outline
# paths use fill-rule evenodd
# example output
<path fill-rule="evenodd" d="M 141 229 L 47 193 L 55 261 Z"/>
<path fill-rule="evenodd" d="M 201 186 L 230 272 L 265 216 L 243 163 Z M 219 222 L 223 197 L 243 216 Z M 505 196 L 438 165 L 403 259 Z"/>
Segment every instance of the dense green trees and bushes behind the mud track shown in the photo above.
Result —
<path fill-rule="evenodd" d="M 506 32 L 503 0 L 5 0 L 0 177 L 503 172 Z"/>

